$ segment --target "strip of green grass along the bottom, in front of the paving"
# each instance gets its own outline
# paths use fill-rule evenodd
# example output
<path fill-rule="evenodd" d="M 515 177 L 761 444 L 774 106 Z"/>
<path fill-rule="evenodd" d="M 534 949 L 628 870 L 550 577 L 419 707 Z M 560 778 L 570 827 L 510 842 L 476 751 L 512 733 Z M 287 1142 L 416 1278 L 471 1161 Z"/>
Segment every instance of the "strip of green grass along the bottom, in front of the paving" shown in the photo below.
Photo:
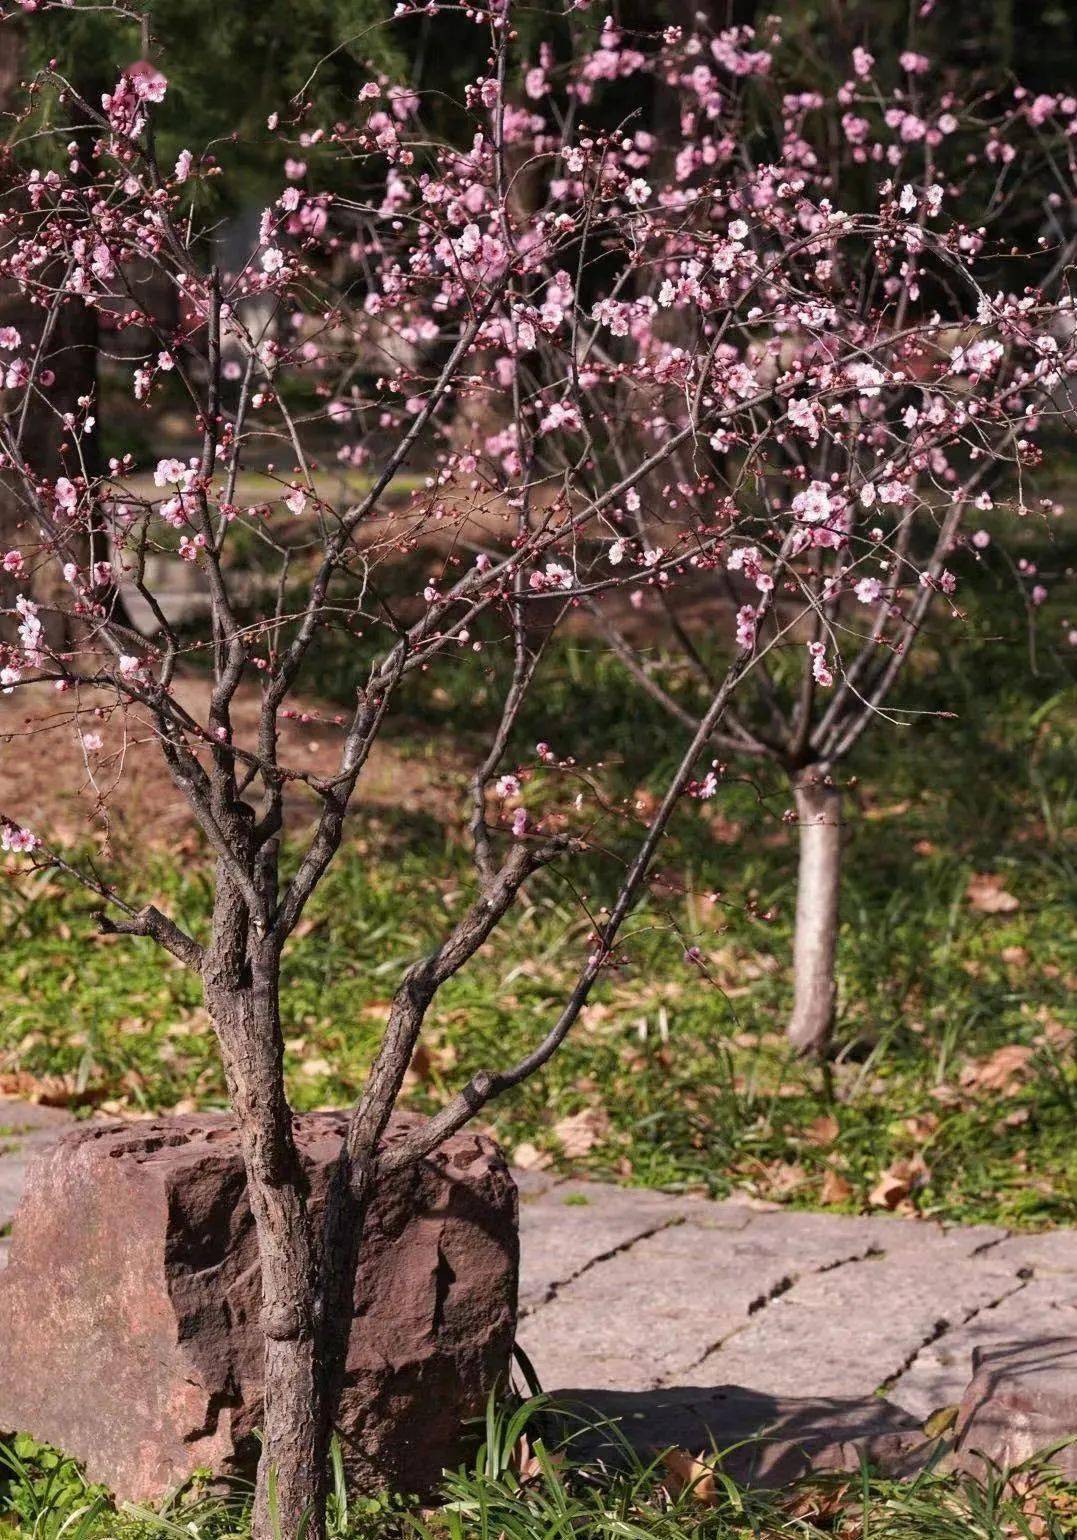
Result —
<path fill-rule="evenodd" d="M 616 1471 L 590 1463 L 576 1452 L 585 1429 L 549 1412 L 542 1398 L 492 1404 L 473 1460 L 424 1506 L 350 1495 L 334 1460 L 330 1540 L 1063 1540 L 1077 1523 L 1077 1488 L 1043 1465 L 974 1480 L 941 1474 L 940 1461 L 904 1481 L 864 1468 L 767 1492 L 732 1480 L 721 1451 L 679 1480 L 661 1455 L 643 1460 L 627 1445 Z M 616 1437 L 604 1429 L 607 1443 Z M 72 1461 L 18 1438 L 0 1445 L 0 1522 L 12 1540 L 243 1540 L 250 1498 L 196 1481 L 157 1511 L 116 1508 Z"/>

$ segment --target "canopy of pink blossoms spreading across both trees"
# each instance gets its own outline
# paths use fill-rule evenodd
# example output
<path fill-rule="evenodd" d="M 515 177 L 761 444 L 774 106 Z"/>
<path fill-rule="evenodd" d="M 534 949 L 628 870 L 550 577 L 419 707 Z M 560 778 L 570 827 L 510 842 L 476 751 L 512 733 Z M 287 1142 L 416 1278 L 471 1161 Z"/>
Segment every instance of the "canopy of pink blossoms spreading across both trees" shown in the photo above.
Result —
<path fill-rule="evenodd" d="M 887 88 L 863 48 L 827 92 L 797 79 L 777 23 L 641 37 L 607 20 L 569 62 L 544 45 L 508 69 L 502 8 L 475 20 L 492 68 L 451 140 L 374 72 L 347 117 L 273 114 L 282 186 L 234 271 L 208 270 L 199 226 L 213 157 L 185 149 L 171 174 L 154 160 L 157 66 L 131 63 L 83 105 L 89 171 L 28 166 L 0 274 L 35 311 L 88 305 L 133 339 L 133 400 L 153 417 L 179 391 L 190 445 L 94 473 L 85 397 L 63 416 L 65 473 L 26 465 L 23 407 L 48 403 L 60 362 L 0 331 L 0 448 L 32 508 L 3 556 L 25 584 L 5 688 L 69 688 L 86 653 L 123 698 L 166 687 L 176 651 L 205 639 L 168 634 L 148 554 L 202 574 L 217 631 L 242 608 L 243 667 L 268 678 L 288 650 L 282 594 L 319 556 L 331 582 L 296 613 L 310 630 L 344 613 L 391 648 L 370 571 L 419 551 L 418 658 L 488 645 L 482 627 L 505 636 L 532 607 L 709 594 L 730 647 L 797 648 L 827 690 L 851 639 L 908 644 L 920 594 L 958 613 L 961 551 L 983 550 L 969 521 L 1046 516 L 1025 488 L 1038 427 L 1068 411 L 1072 300 L 1048 237 L 1022 266 L 992 234 L 980 168 L 1029 182 L 1052 136 L 1072 140 L 1077 100 L 1017 91 L 972 111 L 924 55 Z M 626 82 L 661 100 L 670 134 L 610 126 L 604 92 Z M 772 128 L 747 134 L 761 92 Z M 143 303 L 145 273 L 177 320 Z M 342 499 L 313 468 L 314 431 L 344 485 L 365 476 L 371 493 Z M 265 442 L 287 464 L 254 496 Z M 404 467 L 421 485 L 396 493 Z M 251 541 L 279 573 L 228 598 Z M 79 661 L 43 641 L 43 562 L 92 638 Z M 1028 576 L 1040 604 L 1043 574 Z M 123 585 L 154 605 L 156 636 L 116 628 Z"/>

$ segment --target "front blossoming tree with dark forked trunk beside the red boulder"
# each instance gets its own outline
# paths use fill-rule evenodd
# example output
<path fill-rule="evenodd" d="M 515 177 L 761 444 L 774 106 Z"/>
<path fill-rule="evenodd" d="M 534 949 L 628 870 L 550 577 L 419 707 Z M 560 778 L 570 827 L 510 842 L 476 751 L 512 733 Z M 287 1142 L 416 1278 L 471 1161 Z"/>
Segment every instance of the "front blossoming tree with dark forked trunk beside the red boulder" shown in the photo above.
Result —
<path fill-rule="evenodd" d="M 399 11 L 407 22 L 410 6 Z M 451 139 L 427 128 L 416 92 L 376 74 L 333 122 L 316 120 L 302 95 L 280 105 L 270 126 L 285 185 L 236 271 L 208 260 L 191 200 L 208 162 L 197 146 L 174 166 L 154 152 L 166 60 L 131 63 L 100 102 L 45 71 L 32 89 L 63 99 L 91 148 L 66 172 L 15 176 L 0 216 L 2 274 L 43 317 L 34 346 L 0 336 L 0 451 L 22 510 L 17 544 L 3 554 L 22 587 L 0 687 L 28 702 L 49 691 L 52 725 L 66 713 L 80 735 L 108 722 L 154 736 L 216 862 L 203 939 L 65 855 L 48 829 L 28 829 L 18 808 L 2 810 L 0 838 L 18 859 L 96 892 L 108 930 L 151 938 L 200 979 L 262 1261 L 259 1540 L 277 1525 L 290 1537 L 324 1526 L 370 1194 L 538 1073 L 595 986 L 624 962 L 622 926 L 670 821 L 686 799 L 715 793 L 715 744 L 749 742 L 733 715 L 747 684 L 769 679 L 795 647 L 810 658 L 812 699 L 843 687 L 871 699 L 849 590 L 877 584 L 874 624 L 898 638 L 915 628 L 920 596 L 949 587 L 948 510 L 965 505 L 975 477 L 963 456 L 994 457 L 1012 444 L 1028 464 L 1026 403 L 1068 367 L 1048 345 L 1055 306 L 1042 293 L 980 294 L 960 367 L 940 317 L 901 305 L 926 253 L 955 290 L 974 285 L 977 242 L 940 216 L 931 186 L 904 206 L 880 168 L 864 208 L 844 209 L 838 189 L 806 174 L 807 143 L 797 136 L 773 163 L 743 171 L 735 120 L 723 117 L 730 86 L 767 89 L 770 79 L 767 46 L 746 32 L 629 37 L 609 23 L 598 38 L 573 31 L 569 57 L 542 51 L 518 69 L 504 0 L 468 14 L 485 29 L 488 60 Z M 589 126 L 604 92 L 656 75 L 683 103 L 672 157 L 632 122 Z M 288 174 L 311 145 L 341 162 L 333 192 Z M 14 152 L 18 165 L 17 143 Z M 875 169 L 871 157 L 866 166 Z M 527 199 L 518 196 L 524 176 Z M 880 280 L 857 320 L 844 285 L 874 260 L 900 282 Z M 166 331 L 139 303 L 133 274 L 146 266 L 177 294 Z M 62 413 L 63 473 L 34 464 L 28 402 L 49 408 L 54 339 L 71 306 L 149 331 L 131 393 L 149 411 L 162 382 L 179 380 L 190 451 L 148 467 L 122 453 L 97 471 L 86 453 L 91 399 Z M 909 360 L 920 356 L 941 382 L 934 373 L 931 387 L 912 382 Z M 898 433 L 875 403 L 897 393 L 903 373 Z M 461 407 L 482 400 L 504 407 L 502 422 L 461 442 Z M 1011 433 L 981 437 L 980 424 L 994 434 L 997 419 Z M 327 433 L 339 460 L 365 477 L 354 496 L 331 493 L 319 473 Z M 824 440 L 829 465 L 801 465 Z M 733 454 L 741 468 L 730 474 Z M 778 494 L 772 465 L 795 496 Z M 262 473 L 256 496 L 245 491 L 250 467 Z M 421 473 L 407 497 L 404 468 Z M 911 537 L 912 499 L 940 521 L 926 559 Z M 414 556 L 428 576 L 407 602 L 390 599 L 387 574 Z M 59 574 L 55 602 L 71 621 L 74 641 L 63 645 L 49 642 L 31 596 L 43 567 Z M 183 624 L 165 604 L 162 574 L 176 567 L 197 573 L 205 599 Z M 567 616 L 592 608 L 601 622 L 624 598 L 676 621 L 712 581 L 746 585 L 752 599 L 736 610 L 730 656 L 707 673 L 706 708 L 678 713 L 679 761 L 643 825 L 604 795 L 601 767 L 559 779 L 573 768 L 570 744 L 512 758 L 524 704 L 542 701 L 544 645 Z M 119 616 L 120 587 L 151 614 L 149 638 Z M 331 773 L 280 744 L 299 691 L 316 687 L 327 639 L 354 647 L 365 668 Z M 501 651 L 512 659 L 508 685 L 470 788 L 476 892 L 399 981 L 316 1221 L 285 1089 L 282 955 L 408 682 Z M 182 688 L 200 664 L 205 710 Z M 236 708 L 251 693 L 256 727 L 243 732 Z M 316 801 L 313 827 L 296 788 Z M 476 1072 L 422 1127 L 384 1143 L 438 990 L 493 936 L 525 882 L 570 870 L 598 844 L 616 847 L 622 872 L 590 916 L 556 1016 L 519 1061 Z"/>

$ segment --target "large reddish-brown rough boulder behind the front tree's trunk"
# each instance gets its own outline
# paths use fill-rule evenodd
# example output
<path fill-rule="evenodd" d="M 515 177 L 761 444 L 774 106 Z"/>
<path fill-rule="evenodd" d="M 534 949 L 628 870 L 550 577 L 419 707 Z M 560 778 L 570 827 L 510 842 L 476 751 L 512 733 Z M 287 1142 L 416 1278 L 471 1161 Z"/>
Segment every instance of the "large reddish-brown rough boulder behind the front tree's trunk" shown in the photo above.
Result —
<path fill-rule="evenodd" d="M 296 1120 L 320 1207 L 339 1113 Z M 414 1126 L 398 1113 L 387 1138 Z M 516 1189 L 459 1133 L 376 1195 L 341 1404 L 345 1454 L 425 1492 L 508 1366 Z M 260 1277 L 236 1124 L 86 1126 L 31 1166 L 0 1272 L 0 1429 L 83 1461 L 117 1495 L 247 1474 L 262 1418 Z"/>

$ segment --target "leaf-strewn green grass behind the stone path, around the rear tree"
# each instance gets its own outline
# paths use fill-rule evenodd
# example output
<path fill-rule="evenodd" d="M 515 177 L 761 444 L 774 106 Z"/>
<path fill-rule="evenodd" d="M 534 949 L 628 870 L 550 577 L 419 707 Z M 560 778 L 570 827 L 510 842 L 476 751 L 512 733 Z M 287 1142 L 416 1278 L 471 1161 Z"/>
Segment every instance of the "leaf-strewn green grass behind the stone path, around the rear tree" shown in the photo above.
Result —
<path fill-rule="evenodd" d="M 618 1181 L 747 1189 L 847 1210 L 869 1204 L 895 1161 L 915 1158 L 908 1201 L 924 1215 L 1074 1223 L 1077 693 L 1072 662 L 1051 645 L 1040 644 L 1029 668 L 1020 616 L 1000 634 L 989 599 L 985 579 L 969 622 L 941 618 L 920 648 L 900 704 L 929 715 L 866 735 L 847 767 L 830 1072 L 792 1061 L 781 1036 L 789 792 L 773 776 L 730 772 L 713 802 L 678 813 L 659 862 L 664 886 L 626 929 L 624 967 L 545 1073 L 488 1109 L 510 1150 L 533 1146 L 539 1158 Z M 1057 633 L 1054 621 L 1045 627 Z M 328 695 L 353 687 L 354 651 L 324 658 Z M 398 753 L 447 764 L 442 796 L 462 790 L 495 710 L 499 679 L 485 656 L 462 653 L 455 670 L 418 679 L 393 721 Z M 544 667 L 513 753 L 533 762 L 532 745 L 545 738 L 582 765 L 601 759 L 615 795 L 661 788 L 681 735 L 632 695 L 606 651 L 578 639 Z M 931 715 L 940 711 L 954 715 Z M 539 773 L 528 798 L 556 807 L 578 784 Z M 465 799 L 447 819 L 434 816 L 439 805 L 414 799 L 356 815 L 288 949 L 288 1075 L 300 1107 L 356 1095 L 404 969 L 475 889 Z M 407 1090 L 413 1106 L 434 1107 L 470 1070 L 504 1063 L 545 1030 L 587 952 L 579 893 L 593 909 L 613 890 L 632 849 L 626 824 L 606 819 L 604 849 L 575 864 L 570 881 L 535 881 L 442 990 Z M 1018 907 L 972 907 L 969 881 L 985 873 Z M 203 927 L 205 856 L 174 862 L 151 852 L 112 875 L 140 902 Z M 197 981 L 149 942 L 96 938 L 94 909 L 49 873 L 0 889 L 0 1075 L 63 1075 L 75 1103 L 112 1110 L 220 1104 Z M 701 947 L 704 973 L 686 964 L 689 942 Z M 992 1080 L 985 1061 L 1000 1050 L 1015 1050 L 1014 1072 L 994 1060 Z M 582 1110 L 593 1113 L 593 1143 L 569 1161 L 558 1124 Z"/>

